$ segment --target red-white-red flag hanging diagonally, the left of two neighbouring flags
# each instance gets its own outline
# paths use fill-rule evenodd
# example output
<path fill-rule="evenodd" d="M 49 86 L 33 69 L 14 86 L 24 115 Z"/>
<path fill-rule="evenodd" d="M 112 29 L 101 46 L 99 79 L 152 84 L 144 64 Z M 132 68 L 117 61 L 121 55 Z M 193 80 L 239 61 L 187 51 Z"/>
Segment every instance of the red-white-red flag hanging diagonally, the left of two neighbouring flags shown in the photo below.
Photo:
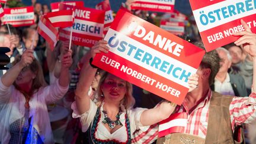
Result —
<path fill-rule="evenodd" d="M 53 50 L 57 44 L 57 40 L 59 40 L 59 33 L 55 27 L 50 23 L 50 21 L 44 16 L 40 18 L 37 32 L 46 39 L 47 43 L 49 43 L 51 50 Z"/>

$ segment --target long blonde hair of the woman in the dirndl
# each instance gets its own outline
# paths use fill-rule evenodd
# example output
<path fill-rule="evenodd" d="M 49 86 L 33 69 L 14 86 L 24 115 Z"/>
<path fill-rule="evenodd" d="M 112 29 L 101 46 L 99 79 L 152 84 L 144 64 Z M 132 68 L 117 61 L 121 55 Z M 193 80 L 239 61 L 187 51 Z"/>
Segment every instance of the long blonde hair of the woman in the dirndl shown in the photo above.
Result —
<path fill-rule="evenodd" d="M 100 105 L 104 100 L 104 98 L 101 97 L 101 95 L 103 95 L 101 91 L 101 85 L 103 85 L 103 82 L 105 81 L 105 78 L 107 78 L 108 75 L 110 75 L 110 73 L 105 71 L 101 74 L 101 79 L 98 84 L 98 90 L 97 90 L 97 94 L 98 94 L 97 101 L 99 102 L 98 105 Z M 123 105 L 124 108 L 126 109 L 132 108 L 133 105 L 135 104 L 135 98 L 133 97 L 132 92 L 133 92 L 132 84 L 126 81 L 126 94 L 124 95 L 123 100 L 120 101 L 120 104 Z"/>

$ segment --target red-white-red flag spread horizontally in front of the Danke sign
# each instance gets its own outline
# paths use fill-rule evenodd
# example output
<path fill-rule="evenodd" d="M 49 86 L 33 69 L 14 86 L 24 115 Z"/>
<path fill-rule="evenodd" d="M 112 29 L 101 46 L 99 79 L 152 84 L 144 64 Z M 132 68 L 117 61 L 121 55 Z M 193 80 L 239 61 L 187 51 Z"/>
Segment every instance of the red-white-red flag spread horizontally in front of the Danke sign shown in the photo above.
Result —
<path fill-rule="evenodd" d="M 61 10 L 55 12 L 49 12 L 45 15 L 46 18 L 52 23 L 53 27 L 71 27 L 73 24 L 72 20 L 73 11 L 69 10 Z"/>

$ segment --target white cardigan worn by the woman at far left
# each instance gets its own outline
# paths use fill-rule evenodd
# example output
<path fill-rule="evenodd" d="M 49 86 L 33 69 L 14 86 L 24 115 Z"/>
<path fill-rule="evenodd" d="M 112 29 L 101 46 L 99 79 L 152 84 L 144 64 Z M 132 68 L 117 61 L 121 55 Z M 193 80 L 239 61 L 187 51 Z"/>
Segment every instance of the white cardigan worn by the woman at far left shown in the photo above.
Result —
<path fill-rule="evenodd" d="M 60 86 L 57 81 L 53 85 L 40 88 L 28 102 L 30 117 L 33 116 L 33 127 L 46 144 L 54 143 L 46 104 L 59 100 L 67 91 L 68 87 Z M 14 85 L 5 87 L 0 79 L 0 123 L 2 125 L 0 126 L 0 143 L 9 143 L 9 139 L 11 139 L 9 125 L 24 117 L 24 104 L 24 95 Z"/>

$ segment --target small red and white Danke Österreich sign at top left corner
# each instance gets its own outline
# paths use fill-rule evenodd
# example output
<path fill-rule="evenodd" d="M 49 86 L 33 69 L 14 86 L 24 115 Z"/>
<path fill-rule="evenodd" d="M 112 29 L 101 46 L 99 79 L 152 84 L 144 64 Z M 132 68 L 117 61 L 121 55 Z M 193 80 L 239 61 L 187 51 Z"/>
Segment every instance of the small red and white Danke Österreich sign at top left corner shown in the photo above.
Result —
<path fill-rule="evenodd" d="M 11 24 L 14 27 L 22 27 L 34 24 L 34 8 L 4 8 L 4 24 Z"/>

